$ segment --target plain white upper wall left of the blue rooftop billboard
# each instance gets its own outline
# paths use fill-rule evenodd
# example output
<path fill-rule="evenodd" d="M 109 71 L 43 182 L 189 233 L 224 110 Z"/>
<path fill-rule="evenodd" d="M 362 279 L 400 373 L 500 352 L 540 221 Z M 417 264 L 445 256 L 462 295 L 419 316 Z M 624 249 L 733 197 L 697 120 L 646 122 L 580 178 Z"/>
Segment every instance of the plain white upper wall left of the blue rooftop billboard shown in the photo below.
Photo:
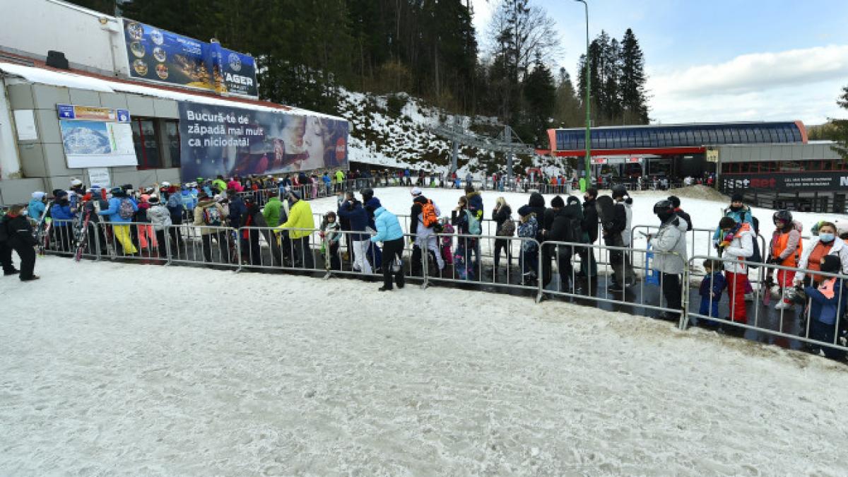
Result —
<path fill-rule="evenodd" d="M 120 20 L 59 0 L 0 0 L 0 49 L 39 59 L 64 53 L 72 67 L 126 76 Z"/>

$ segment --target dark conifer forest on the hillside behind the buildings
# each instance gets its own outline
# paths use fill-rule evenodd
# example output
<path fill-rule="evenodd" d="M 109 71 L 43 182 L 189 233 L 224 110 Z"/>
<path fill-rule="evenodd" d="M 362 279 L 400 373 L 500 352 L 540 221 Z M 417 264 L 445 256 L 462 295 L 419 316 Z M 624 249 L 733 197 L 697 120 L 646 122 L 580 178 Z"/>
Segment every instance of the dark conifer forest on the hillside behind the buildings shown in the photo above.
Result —
<path fill-rule="evenodd" d="M 72 0 L 251 53 L 262 98 L 338 113 L 339 87 L 408 93 L 446 111 L 497 116 L 525 143 L 585 124 L 585 55 L 552 70 L 555 21 L 530 0 L 497 2 L 475 31 L 470 0 Z M 632 30 L 589 48 L 595 126 L 647 124 L 644 54 Z"/>

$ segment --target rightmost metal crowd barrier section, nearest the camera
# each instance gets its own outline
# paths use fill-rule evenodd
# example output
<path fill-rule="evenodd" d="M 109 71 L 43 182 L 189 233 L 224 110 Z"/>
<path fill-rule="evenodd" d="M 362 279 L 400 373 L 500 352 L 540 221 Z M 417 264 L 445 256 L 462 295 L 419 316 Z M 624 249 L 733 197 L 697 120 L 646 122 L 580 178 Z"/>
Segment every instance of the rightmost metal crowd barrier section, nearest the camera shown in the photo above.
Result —
<path fill-rule="evenodd" d="M 722 272 L 724 268 L 723 265 L 725 263 L 739 263 L 739 261 L 731 258 L 719 258 L 710 255 L 693 256 L 689 259 L 689 267 L 686 269 L 687 283 L 691 282 L 693 278 L 701 277 L 701 279 L 707 279 L 706 275 L 703 272 L 700 272 L 700 267 L 696 266 L 700 265 L 700 261 L 704 260 L 711 260 L 714 261 L 714 263 L 721 264 Z M 834 323 L 824 324 L 823 322 L 818 321 L 818 317 L 812 316 L 812 299 L 810 298 L 806 299 L 806 303 L 803 306 L 793 302 L 793 304 L 787 309 L 775 310 L 774 306 L 761 306 L 763 298 L 762 294 L 772 293 L 772 290 L 767 289 L 767 287 L 759 287 L 754 290 L 755 296 L 753 306 L 751 306 L 753 308 L 753 318 L 751 318 L 750 313 L 747 312 L 747 307 L 745 322 L 741 319 L 734 321 L 733 318 L 736 318 L 735 313 L 729 309 L 728 317 L 722 317 L 724 314 L 722 313 L 724 308 L 726 306 L 733 306 L 733 303 L 731 303 L 728 296 L 732 283 L 726 283 L 721 297 L 717 300 L 717 310 L 713 308 L 714 301 L 712 296 L 710 296 L 710 299 L 706 302 L 706 311 L 708 314 L 705 314 L 703 310 L 700 309 L 700 306 L 696 309 L 692 304 L 690 304 L 687 308 L 686 314 L 680 319 L 680 329 L 685 330 L 689 327 L 690 323 L 700 325 L 706 324 L 707 326 L 721 325 L 722 327 L 727 326 L 739 328 L 741 331 L 755 330 L 756 332 L 770 335 L 775 340 L 784 340 L 784 343 L 780 343 L 783 345 L 786 345 L 786 341 L 788 340 L 797 340 L 808 345 L 825 346 L 833 350 L 848 351 L 848 346 L 846 346 L 845 341 L 840 340 L 840 338 L 843 337 L 842 332 L 845 330 L 845 303 L 846 300 L 848 300 L 848 296 L 845 295 L 845 284 L 848 283 L 848 275 L 845 275 L 844 273 L 834 274 L 801 270 L 798 268 L 783 267 L 781 265 L 771 263 L 761 263 L 758 264 L 758 267 L 764 270 L 767 276 L 771 276 L 775 274 L 775 272 L 782 271 L 783 274 L 791 275 L 792 278 L 794 278 L 795 273 L 804 272 L 807 284 L 810 283 L 812 275 L 822 278 L 839 278 L 842 280 L 843 286 L 838 289 L 834 289 L 834 297 L 838 304 Z M 709 279 L 710 285 L 712 285 L 712 278 Z M 784 280 L 784 283 L 776 283 L 774 285 L 778 288 L 778 297 L 774 299 L 775 303 L 783 300 L 783 297 L 786 295 L 786 290 L 793 289 L 791 284 L 786 284 L 789 281 L 794 280 L 786 279 Z M 712 289 L 712 286 L 710 286 L 710 288 Z M 801 311 L 798 310 L 799 306 L 802 307 Z M 763 311 L 763 308 L 765 308 L 766 311 Z M 718 312 L 715 313 L 714 311 Z M 774 315 L 769 311 L 774 311 Z"/>

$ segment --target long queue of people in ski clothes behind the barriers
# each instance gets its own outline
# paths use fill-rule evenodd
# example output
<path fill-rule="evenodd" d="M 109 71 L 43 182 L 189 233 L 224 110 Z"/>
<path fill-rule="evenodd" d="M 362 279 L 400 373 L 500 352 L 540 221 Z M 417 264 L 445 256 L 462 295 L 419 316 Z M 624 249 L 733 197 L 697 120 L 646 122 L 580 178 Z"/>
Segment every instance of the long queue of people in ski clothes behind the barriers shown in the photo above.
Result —
<path fill-rule="evenodd" d="M 3 217 L 0 258 L 4 275 L 18 275 L 24 281 L 37 279 L 33 273 L 36 255 L 31 252 L 38 245 L 35 231 L 43 227 L 43 218 L 50 216 L 53 221 L 55 235 L 47 240 L 52 240 L 55 250 L 66 252 L 75 246 L 76 234 L 69 229 L 83 215 L 93 223 L 106 226 L 89 229 L 88 246 L 96 242 L 103 250 L 112 244 L 119 249 L 118 255 L 137 255 L 145 250 L 154 251 L 159 257 L 174 253 L 185 240 L 181 227 L 172 226 L 187 219 L 199 229 L 206 262 L 260 265 L 259 240 L 264 236 L 275 266 L 314 268 L 313 249 L 318 247 L 310 244 L 310 237 L 315 223 L 309 202 L 302 196 L 303 189 L 282 188 L 263 207 L 250 194 L 238 194 L 237 186 L 243 187 L 243 182 L 235 179 L 226 181 L 218 177 L 179 187 L 165 182 L 154 188 L 134 190 L 124 186 L 109 191 L 96 187 L 83 190 L 81 184 L 72 184 L 67 191 L 53 191 L 50 199 L 42 192 L 33 193 L 29 204 L 14 206 Z M 226 190 L 221 191 L 221 187 Z M 516 208 L 516 216 L 513 207 L 500 197 L 491 211 L 495 226 L 493 267 L 485 271 L 481 250 L 484 207 L 480 192 L 471 184 L 466 185 L 449 219 L 442 217 L 442 210 L 421 188 L 412 188 L 410 194 L 412 275 L 421 275 L 426 265 L 431 267 L 428 273 L 443 277 L 449 273 L 459 280 L 475 281 L 490 272 L 497 280 L 503 272 L 509 273 L 512 259 L 517 258 L 522 285 L 536 287 L 541 282 L 548 289 L 553 279 L 552 264 L 556 264 L 560 291 L 594 294 L 598 267 L 593 249 L 603 239 L 611 269 L 608 296 L 625 300 L 624 294 L 639 279 L 633 270 L 633 198 L 622 186 L 612 188 L 611 197 L 605 198 L 611 199 L 605 202 L 609 206 L 599 205 L 596 188 L 587 189 L 582 201 L 576 196 L 556 196 L 551 199 L 550 207 L 545 205 L 542 194 L 533 193 L 526 205 Z M 348 253 L 353 272 L 382 273 L 383 291 L 394 286 L 402 288 L 404 233 L 398 217 L 382 206 L 372 188 L 362 188 L 360 198 L 349 190 L 339 191 L 338 195 L 338 209 L 328 212 L 321 221 L 320 247 L 326 267 L 342 269 L 343 253 Z M 675 196 L 656 202 L 653 211 L 658 228 L 648 238 L 655 254 L 650 267 L 661 283 L 664 308 L 672 310 L 662 312 L 660 317 L 676 320 L 678 310 L 682 309 L 681 279 L 688 264 L 687 232 L 693 229 L 692 218 Z M 774 264 L 785 267 L 776 273 L 769 269 L 766 274 L 769 292 L 778 297 L 775 309 L 794 308 L 796 297 L 801 294 L 815 302 L 814 310 L 822 315 L 816 317 L 814 313 L 811 337 L 833 340 L 838 331 L 834 323 L 845 315 L 842 298 L 845 289 L 840 280 L 817 272 L 848 273 L 845 244 L 848 224 L 819 222 L 816 237 L 805 244 L 801 223 L 789 210 L 774 212 L 773 223 L 775 230 L 767 250 L 759 250 L 756 217 L 740 195 L 731 198 L 713 233 L 713 245 L 721 260 L 702 264 L 706 278 L 699 290 L 700 315 L 714 318 L 705 321 L 708 326 L 722 319 L 748 323 L 746 302 L 752 299 L 750 268 L 759 263 Z M 252 233 L 249 229 L 254 227 L 261 232 Z M 271 228 L 274 230 L 269 231 Z M 521 242 L 517 250 L 511 246 L 516 236 Z M 234 255 L 237 249 L 234 244 L 239 240 L 241 257 Z M 165 244 L 169 243 L 171 250 L 165 250 Z M 346 252 L 341 251 L 343 243 Z M 20 256 L 20 270 L 12 265 L 12 251 Z M 426 264 L 422 260 L 424 255 L 428 257 Z M 579 267 L 574 262 L 577 259 Z M 724 318 L 717 316 L 717 301 L 722 293 L 726 293 L 729 303 L 728 317 Z M 837 302 L 834 304 L 833 300 Z"/>

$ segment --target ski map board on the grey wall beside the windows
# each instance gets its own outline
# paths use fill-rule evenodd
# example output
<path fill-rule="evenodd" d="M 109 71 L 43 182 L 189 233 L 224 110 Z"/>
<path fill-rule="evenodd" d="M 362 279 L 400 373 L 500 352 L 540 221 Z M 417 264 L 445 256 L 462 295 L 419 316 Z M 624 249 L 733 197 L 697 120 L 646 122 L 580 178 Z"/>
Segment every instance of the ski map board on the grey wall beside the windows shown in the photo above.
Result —
<path fill-rule="evenodd" d="M 64 156 L 70 169 L 136 166 L 130 112 L 57 104 Z"/>

